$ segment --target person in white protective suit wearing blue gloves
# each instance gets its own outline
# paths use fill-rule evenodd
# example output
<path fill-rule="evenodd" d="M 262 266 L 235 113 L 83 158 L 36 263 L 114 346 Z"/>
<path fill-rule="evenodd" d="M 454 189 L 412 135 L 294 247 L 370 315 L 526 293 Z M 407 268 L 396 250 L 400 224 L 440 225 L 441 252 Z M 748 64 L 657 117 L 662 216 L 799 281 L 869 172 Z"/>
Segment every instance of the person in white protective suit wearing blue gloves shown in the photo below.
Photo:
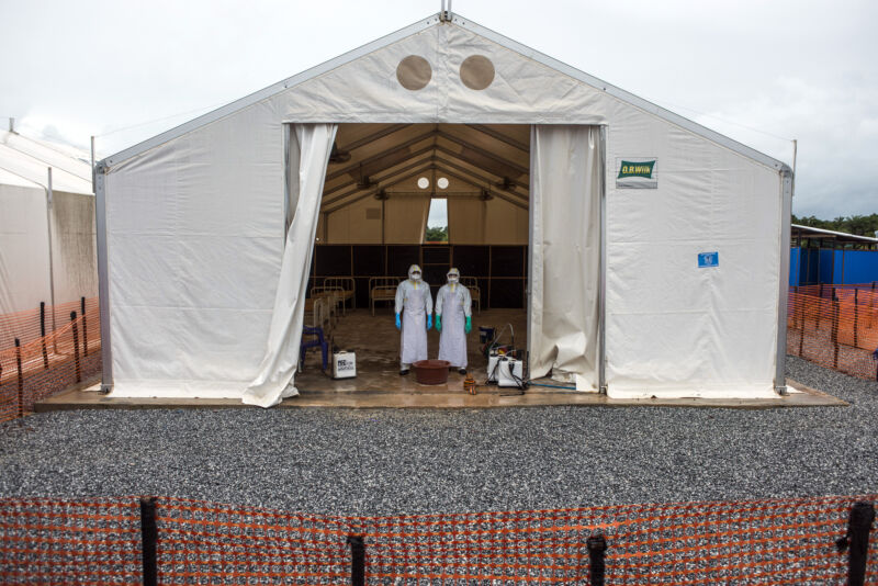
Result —
<path fill-rule="evenodd" d="M 420 279 L 420 267 L 408 268 L 408 279 L 396 288 L 396 329 L 399 336 L 399 374 L 413 362 L 427 360 L 427 330 L 432 327 L 430 285 Z M 402 315 L 401 315 L 402 314 Z"/>

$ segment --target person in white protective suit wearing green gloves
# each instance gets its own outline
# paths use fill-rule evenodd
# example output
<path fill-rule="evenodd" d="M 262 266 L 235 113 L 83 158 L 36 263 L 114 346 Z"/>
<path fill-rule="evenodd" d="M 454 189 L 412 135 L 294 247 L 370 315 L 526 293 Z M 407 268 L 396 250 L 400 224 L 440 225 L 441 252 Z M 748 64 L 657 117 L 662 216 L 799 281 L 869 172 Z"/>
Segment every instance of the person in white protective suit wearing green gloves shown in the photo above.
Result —
<path fill-rule="evenodd" d="M 473 327 L 473 300 L 460 284 L 460 271 L 448 271 L 448 284 L 436 294 L 436 329 L 439 335 L 439 360 L 448 360 L 466 374 L 466 335 Z"/>

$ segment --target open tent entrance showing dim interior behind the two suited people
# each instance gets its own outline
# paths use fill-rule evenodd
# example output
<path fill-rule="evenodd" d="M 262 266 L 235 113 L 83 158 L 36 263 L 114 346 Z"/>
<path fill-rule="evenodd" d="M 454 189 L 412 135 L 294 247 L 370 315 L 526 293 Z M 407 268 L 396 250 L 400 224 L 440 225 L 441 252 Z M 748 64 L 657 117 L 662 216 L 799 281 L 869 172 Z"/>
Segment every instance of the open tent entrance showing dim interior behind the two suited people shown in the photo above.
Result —
<path fill-rule="evenodd" d="M 320 202 L 305 326 L 329 346 L 356 353 L 357 377 L 322 372 L 322 349 L 305 351 L 301 393 L 460 392 L 399 375 L 394 297 L 418 264 L 431 298 L 455 267 L 472 297 L 469 372 L 484 382 L 480 328 L 527 348 L 530 201 L 529 125 L 340 124 Z M 444 217 L 431 201 L 446 204 Z M 315 331 L 312 329 L 311 331 Z M 313 337 L 313 335 L 311 335 Z M 428 357 L 440 334 L 428 330 Z M 316 339 L 313 337 L 313 339 Z M 331 374 L 331 356 L 328 373 Z"/>

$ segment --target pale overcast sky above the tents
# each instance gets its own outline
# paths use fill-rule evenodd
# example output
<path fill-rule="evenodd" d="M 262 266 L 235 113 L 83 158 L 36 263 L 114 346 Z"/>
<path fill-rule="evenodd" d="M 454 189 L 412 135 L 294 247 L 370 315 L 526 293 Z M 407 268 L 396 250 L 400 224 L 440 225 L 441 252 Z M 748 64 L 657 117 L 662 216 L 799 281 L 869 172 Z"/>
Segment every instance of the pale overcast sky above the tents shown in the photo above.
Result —
<path fill-rule="evenodd" d="M 0 0 L 0 116 L 99 156 L 356 48 L 439 0 Z M 792 164 L 793 213 L 878 212 L 878 2 L 454 0 L 459 12 Z"/>

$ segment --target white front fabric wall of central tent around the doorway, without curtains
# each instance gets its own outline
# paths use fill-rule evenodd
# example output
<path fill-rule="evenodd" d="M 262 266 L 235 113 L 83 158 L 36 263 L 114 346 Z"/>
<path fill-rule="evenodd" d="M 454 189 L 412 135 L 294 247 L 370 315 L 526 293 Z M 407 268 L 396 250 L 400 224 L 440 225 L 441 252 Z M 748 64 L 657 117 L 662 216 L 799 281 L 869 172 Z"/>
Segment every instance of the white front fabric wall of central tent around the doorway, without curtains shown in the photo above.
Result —
<path fill-rule="evenodd" d="M 280 270 L 283 123 L 348 122 L 606 124 L 610 394 L 772 392 L 779 164 L 513 47 L 437 23 L 132 158 L 110 157 L 115 392 L 191 396 L 226 385 L 240 396 L 262 358 Z M 484 90 L 460 78 L 476 54 L 495 69 Z M 431 66 L 418 91 L 396 80 L 409 55 Z M 624 157 L 656 158 L 657 189 L 617 189 Z M 719 251 L 720 266 L 699 270 L 697 253 L 707 251 Z"/>

